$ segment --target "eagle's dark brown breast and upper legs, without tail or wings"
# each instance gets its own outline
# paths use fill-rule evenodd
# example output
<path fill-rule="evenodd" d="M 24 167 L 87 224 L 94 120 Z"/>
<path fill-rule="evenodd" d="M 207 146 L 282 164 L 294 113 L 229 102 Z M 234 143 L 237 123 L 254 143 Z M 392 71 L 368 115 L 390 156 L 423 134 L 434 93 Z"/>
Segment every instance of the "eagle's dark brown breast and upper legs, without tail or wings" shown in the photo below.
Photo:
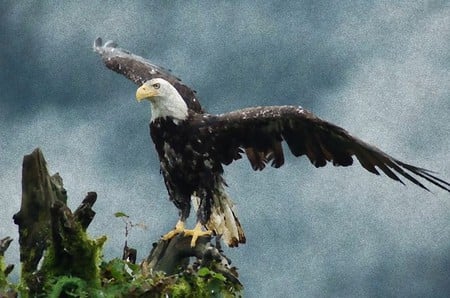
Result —
<path fill-rule="evenodd" d="M 214 158 L 208 138 L 186 121 L 158 118 L 150 123 L 150 133 L 169 196 L 181 218 L 189 216 L 191 196 L 197 195 L 202 198 L 198 218 L 205 224 L 211 212 L 213 191 L 218 183 L 223 183 L 223 168 Z"/>

